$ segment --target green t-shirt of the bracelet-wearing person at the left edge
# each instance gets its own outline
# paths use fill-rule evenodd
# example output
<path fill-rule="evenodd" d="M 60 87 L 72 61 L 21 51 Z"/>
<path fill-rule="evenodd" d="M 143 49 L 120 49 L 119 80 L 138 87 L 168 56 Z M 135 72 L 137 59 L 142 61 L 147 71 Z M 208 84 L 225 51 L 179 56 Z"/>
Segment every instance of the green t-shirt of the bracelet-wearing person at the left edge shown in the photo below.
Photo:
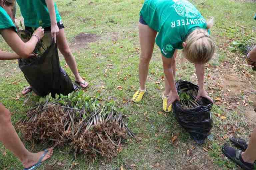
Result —
<path fill-rule="evenodd" d="M 11 17 L 2 7 L 0 7 L 0 29 L 8 28 L 13 28 L 13 30 L 17 32 L 17 28 L 13 24 Z"/>

